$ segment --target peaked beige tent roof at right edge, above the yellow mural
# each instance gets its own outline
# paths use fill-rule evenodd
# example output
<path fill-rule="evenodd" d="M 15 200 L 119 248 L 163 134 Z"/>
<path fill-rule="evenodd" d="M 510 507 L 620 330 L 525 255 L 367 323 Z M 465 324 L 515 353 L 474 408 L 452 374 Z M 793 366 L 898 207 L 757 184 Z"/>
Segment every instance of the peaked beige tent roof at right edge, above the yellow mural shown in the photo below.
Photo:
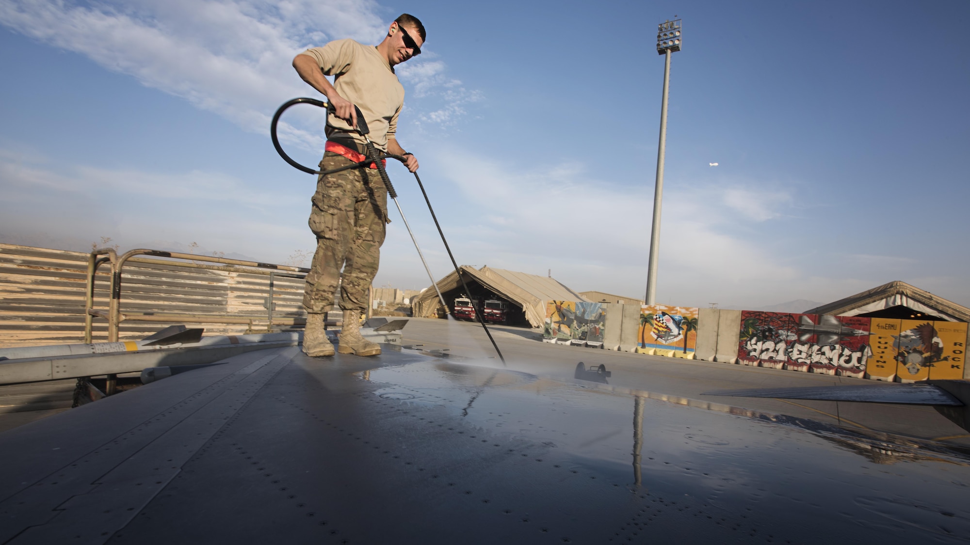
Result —
<path fill-rule="evenodd" d="M 970 322 L 970 308 L 947 301 L 901 280 L 876 286 L 834 303 L 816 306 L 806 310 L 805 313 L 857 316 L 898 305 L 935 314 L 953 322 Z"/>

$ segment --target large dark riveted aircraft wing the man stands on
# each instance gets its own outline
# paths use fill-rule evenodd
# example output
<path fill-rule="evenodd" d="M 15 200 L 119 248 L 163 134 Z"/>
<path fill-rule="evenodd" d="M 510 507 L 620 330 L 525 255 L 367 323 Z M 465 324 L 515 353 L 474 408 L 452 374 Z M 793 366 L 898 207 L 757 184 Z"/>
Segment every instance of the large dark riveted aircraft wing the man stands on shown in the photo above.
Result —
<path fill-rule="evenodd" d="M 494 360 L 298 350 L 245 353 L 0 434 L 0 543 L 970 535 L 970 467 L 946 449 Z"/>

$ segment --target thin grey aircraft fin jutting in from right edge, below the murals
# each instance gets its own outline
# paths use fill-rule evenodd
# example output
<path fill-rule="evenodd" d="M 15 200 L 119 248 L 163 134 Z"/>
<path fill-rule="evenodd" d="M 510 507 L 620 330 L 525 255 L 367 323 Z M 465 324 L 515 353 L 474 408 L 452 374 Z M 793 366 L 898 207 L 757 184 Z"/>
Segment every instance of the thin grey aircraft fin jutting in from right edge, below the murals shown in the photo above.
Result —
<path fill-rule="evenodd" d="M 946 390 L 932 384 L 887 386 L 809 386 L 803 388 L 752 388 L 704 392 L 704 396 L 780 398 L 783 400 L 862 401 L 915 405 L 961 406 Z"/>

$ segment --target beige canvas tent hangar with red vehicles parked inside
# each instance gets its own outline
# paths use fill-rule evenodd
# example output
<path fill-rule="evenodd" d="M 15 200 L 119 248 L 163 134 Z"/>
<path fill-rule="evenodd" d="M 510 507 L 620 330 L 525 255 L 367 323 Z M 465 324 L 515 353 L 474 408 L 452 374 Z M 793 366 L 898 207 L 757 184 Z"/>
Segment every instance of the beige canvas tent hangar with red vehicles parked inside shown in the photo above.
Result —
<path fill-rule="evenodd" d="M 548 302 L 587 301 L 583 296 L 549 276 L 492 269 L 488 266 L 476 270 L 468 265 L 463 265 L 461 270 L 469 285 L 472 282 L 477 282 L 508 301 L 521 305 L 526 314 L 526 319 L 529 320 L 533 328 L 542 327 L 542 323 L 545 322 L 545 310 Z M 437 281 L 437 289 L 445 294 L 445 301 L 447 301 L 448 292 L 461 289 L 461 287 L 462 283 L 455 272 L 451 272 Z M 451 302 L 448 303 L 450 305 Z M 434 286 L 429 286 L 428 289 L 411 300 L 413 315 L 425 318 L 434 317 L 440 305 Z"/>

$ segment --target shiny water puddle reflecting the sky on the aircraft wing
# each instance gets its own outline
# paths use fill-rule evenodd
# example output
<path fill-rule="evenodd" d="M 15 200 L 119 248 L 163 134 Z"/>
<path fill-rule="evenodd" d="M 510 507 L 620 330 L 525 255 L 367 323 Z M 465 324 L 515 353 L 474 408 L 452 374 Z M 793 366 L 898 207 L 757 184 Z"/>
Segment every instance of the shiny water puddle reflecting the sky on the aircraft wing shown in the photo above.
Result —
<path fill-rule="evenodd" d="M 932 531 L 944 542 L 970 533 L 962 486 L 970 482 L 966 462 L 892 451 L 886 443 L 873 449 L 859 437 L 585 388 L 497 365 L 422 362 L 373 369 L 370 379 L 384 385 L 377 396 L 443 407 L 456 422 L 497 443 L 514 438 L 544 445 L 546 462 L 676 498 L 678 508 L 692 505 L 727 519 L 739 516 L 739 505 L 749 506 L 760 511 L 762 523 L 770 519 L 776 530 L 795 537 L 797 531 L 811 534 L 809 521 L 823 519 L 846 531 L 886 529 L 891 519 L 909 531 Z"/>

